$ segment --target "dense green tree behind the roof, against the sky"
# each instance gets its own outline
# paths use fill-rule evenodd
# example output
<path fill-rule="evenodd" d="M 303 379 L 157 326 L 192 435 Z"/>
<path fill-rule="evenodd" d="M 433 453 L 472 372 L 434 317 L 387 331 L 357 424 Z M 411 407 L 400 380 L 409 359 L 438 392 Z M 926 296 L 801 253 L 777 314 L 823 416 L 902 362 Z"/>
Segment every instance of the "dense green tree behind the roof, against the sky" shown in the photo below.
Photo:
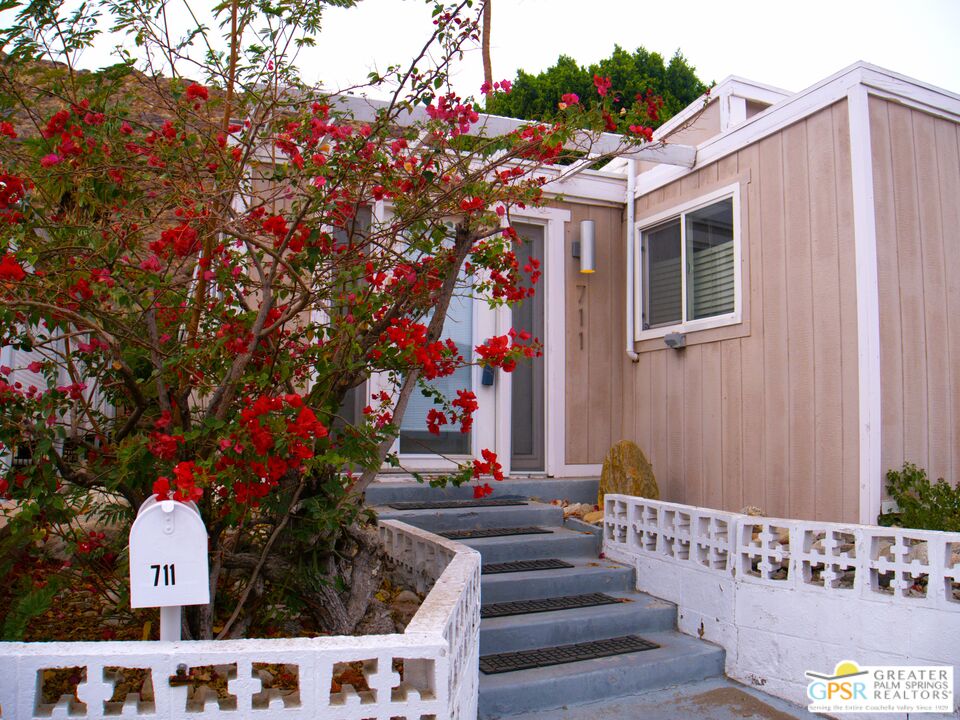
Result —
<path fill-rule="evenodd" d="M 561 55 L 556 63 L 536 75 L 517 71 L 512 91 L 491 97 L 488 110 L 525 120 L 552 118 L 564 94 L 576 93 L 583 99 L 594 96 L 594 75 L 610 78 L 613 87 L 619 88 L 614 100 L 619 99 L 623 107 L 631 106 L 638 95 L 646 97 L 648 92 L 660 96 L 663 106 L 657 117 L 650 118 L 649 124 L 653 127 L 659 127 L 708 87 L 679 50 L 667 63 L 659 53 L 642 47 L 629 53 L 616 45 L 610 57 L 589 66 Z"/>

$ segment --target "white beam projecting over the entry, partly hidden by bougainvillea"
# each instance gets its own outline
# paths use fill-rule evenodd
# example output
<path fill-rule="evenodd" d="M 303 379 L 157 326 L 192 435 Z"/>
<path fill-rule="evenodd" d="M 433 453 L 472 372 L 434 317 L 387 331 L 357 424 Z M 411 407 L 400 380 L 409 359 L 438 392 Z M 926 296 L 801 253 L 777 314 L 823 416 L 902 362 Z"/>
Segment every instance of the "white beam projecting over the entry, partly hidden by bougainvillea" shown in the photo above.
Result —
<path fill-rule="evenodd" d="M 366 121 L 374 120 L 378 111 L 390 105 L 390 103 L 384 100 L 373 100 L 371 98 L 355 97 L 352 95 L 337 95 L 331 98 L 331 102 L 338 108 L 349 112 L 358 120 Z M 427 114 L 427 111 L 422 106 L 417 106 L 408 107 L 406 112 L 401 111 L 394 118 L 394 122 L 401 127 L 408 127 L 426 122 L 429 119 L 430 116 Z M 518 120 L 516 118 L 481 113 L 480 121 L 470 128 L 468 134 L 481 135 L 484 137 L 509 135 L 531 124 L 529 120 Z M 578 133 L 573 140 L 566 144 L 566 147 L 572 150 L 581 150 L 592 155 L 604 155 L 616 152 L 625 157 L 632 157 L 646 162 L 667 163 L 681 165 L 683 167 L 693 167 L 697 156 L 696 148 L 690 145 L 665 145 L 661 143 L 650 143 L 621 152 L 626 142 L 628 142 L 627 138 L 615 133 L 591 135 L 584 132 Z"/>

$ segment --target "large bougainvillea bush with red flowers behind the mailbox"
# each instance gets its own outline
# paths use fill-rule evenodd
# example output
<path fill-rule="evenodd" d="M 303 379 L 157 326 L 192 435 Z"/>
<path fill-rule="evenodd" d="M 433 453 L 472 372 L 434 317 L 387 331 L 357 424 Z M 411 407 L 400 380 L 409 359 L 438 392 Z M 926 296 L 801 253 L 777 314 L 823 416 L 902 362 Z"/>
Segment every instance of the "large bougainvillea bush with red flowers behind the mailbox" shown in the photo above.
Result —
<path fill-rule="evenodd" d="M 443 332 L 450 299 L 534 292 L 511 213 L 544 201 L 538 170 L 583 152 L 579 128 L 622 129 L 627 148 L 649 137 L 646 108 L 597 78 L 550 124 L 484 137 L 447 83 L 479 8 L 428 4 L 423 51 L 373 74 L 385 101 L 352 114 L 298 77 L 312 0 L 225 2 L 183 36 L 172 2 L 4 3 L 7 637 L 76 592 L 129 613 L 126 535 L 151 495 L 196 503 L 209 531 L 213 601 L 185 613 L 187 637 L 285 613 L 351 632 L 378 583 L 363 490 L 399 463 L 411 393 L 434 398 L 425 429 L 469 432 L 474 395 L 434 383 L 539 352 L 516 328 L 465 356 Z M 103 29 L 129 50 L 81 69 Z M 375 374 L 387 389 L 347 418 Z M 482 496 L 501 477 L 484 449 L 447 480 Z"/>

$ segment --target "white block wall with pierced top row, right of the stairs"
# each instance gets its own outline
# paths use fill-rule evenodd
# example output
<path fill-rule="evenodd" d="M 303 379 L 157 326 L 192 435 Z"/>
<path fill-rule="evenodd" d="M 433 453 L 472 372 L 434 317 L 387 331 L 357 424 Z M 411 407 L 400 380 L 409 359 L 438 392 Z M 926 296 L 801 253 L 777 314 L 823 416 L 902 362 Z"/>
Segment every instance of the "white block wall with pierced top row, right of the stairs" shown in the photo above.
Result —
<path fill-rule="evenodd" d="M 603 547 L 677 605 L 682 632 L 723 646 L 730 677 L 791 702 L 842 660 L 960 677 L 960 533 L 607 495 Z"/>

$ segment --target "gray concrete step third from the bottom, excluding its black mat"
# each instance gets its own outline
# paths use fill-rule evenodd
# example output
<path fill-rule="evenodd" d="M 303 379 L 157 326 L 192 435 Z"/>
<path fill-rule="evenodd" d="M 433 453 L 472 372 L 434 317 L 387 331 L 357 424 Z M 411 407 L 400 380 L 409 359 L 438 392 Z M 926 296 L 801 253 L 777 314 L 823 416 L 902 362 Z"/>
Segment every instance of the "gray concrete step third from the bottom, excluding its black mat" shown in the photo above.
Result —
<path fill-rule="evenodd" d="M 562 595 L 630 590 L 634 587 L 633 568 L 609 560 L 559 558 L 572 568 L 530 570 L 484 575 L 481 598 L 485 603 L 531 600 Z"/>

